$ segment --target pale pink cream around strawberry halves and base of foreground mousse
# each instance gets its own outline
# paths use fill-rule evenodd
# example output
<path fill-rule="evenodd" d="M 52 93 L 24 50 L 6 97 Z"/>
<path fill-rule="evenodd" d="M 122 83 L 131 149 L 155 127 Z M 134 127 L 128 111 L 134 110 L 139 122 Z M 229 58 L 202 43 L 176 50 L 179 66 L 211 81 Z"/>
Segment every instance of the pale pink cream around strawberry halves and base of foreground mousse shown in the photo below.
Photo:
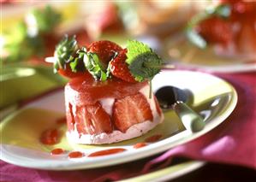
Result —
<path fill-rule="evenodd" d="M 80 133 L 77 131 L 76 126 L 74 125 L 74 130 L 66 133 L 68 141 L 75 144 L 111 144 L 127 140 L 130 138 L 140 137 L 144 133 L 152 130 L 152 128 L 154 128 L 164 120 L 164 114 L 158 114 L 154 98 L 149 98 L 149 85 L 146 85 L 142 89 L 140 89 L 140 93 L 142 93 L 146 97 L 147 102 L 149 103 L 150 108 L 152 109 L 152 121 L 146 120 L 144 122 L 130 126 L 126 132 L 120 132 L 118 130 L 115 130 L 111 133 L 103 132 L 100 134 L 93 135 L 80 135 Z M 106 112 L 111 115 L 114 99 L 105 98 L 99 102 L 103 104 L 103 108 L 106 110 Z"/>

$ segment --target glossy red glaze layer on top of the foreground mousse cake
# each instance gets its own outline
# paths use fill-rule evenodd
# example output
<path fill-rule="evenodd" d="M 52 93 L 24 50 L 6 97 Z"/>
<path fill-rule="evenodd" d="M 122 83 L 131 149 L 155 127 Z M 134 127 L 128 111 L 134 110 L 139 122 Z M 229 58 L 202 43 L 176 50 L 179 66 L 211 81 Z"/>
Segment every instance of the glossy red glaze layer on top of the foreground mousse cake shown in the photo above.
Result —
<path fill-rule="evenodd" d="M 90 73 L 71 79 L 65 87 L 66 98 L 76 106 L 94 104 L 101 98 L 121 98 L 138 93 L 147 82 L 128 83 L 121 79 L 108 79 L 104 82 L 92 78 Z"/>

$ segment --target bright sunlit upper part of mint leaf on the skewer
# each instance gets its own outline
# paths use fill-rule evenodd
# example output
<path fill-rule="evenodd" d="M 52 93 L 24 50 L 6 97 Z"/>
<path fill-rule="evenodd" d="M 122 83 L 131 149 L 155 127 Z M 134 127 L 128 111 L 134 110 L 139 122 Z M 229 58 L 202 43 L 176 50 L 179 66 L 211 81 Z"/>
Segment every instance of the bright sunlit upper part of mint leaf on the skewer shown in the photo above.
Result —
<path fill-rule="evenodd" d="M 136 56 L 144 54 L 146 52 L 152 52 L 152 49 L 148 45 L 143 44 L 137 40 L 128 40 L 127 50 L 128 53 L 126 54 L 126 56 L 128 58 L 126 62 L 128 64 L 131 64 Z"/>

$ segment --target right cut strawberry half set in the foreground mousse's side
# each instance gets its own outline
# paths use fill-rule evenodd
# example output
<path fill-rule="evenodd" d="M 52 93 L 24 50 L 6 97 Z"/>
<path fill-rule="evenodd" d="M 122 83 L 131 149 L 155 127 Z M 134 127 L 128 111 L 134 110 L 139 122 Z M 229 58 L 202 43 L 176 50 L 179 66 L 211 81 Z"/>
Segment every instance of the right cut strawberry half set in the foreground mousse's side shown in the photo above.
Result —
<path fill-rule="evenodd" d="M 117 99 L 113 108 L 113 121 L 121 132 L 126 132 L 130 126 L 152 120 L 152 110 L 146 97 L 141 93 Z"/>

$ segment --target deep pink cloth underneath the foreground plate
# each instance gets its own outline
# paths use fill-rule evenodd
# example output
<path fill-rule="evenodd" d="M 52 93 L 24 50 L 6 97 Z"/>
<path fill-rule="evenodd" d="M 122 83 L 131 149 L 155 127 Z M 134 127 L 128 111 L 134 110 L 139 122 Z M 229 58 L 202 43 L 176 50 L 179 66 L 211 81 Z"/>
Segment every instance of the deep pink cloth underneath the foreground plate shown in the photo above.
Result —
<path fill-rule="evenodd" d="M 214 161 L 256 169 L 256 73 L 218 74 L 235 86 L 238 103 L 235 111 L 220 126 L 188 144 L 158 156 L 115 167 L 77 171 L 43 171 L 17 167 L 0 161 L 1 181 L 104 181 L 148 173 L 170 165 L 173 157 Z"/>

